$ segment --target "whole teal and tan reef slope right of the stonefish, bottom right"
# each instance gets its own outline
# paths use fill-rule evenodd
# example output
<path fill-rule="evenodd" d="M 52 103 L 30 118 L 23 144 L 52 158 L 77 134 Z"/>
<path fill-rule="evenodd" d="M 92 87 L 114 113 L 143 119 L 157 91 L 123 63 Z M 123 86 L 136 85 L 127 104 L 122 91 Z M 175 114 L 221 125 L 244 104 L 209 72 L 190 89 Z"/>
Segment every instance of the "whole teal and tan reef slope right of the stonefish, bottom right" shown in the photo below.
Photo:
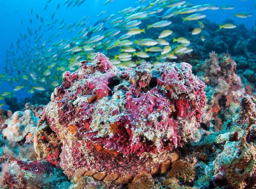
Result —
<path fill-rule="evenodd" d="M 202 132 L 199 142 L 183 146 L 183 157 L 172 163 L 166 177 L 144 176 L 132 186 L 147 186 L 153 179 L 155 184 L 148 188 L 157 185 L 156 188 L 170 189 L 254 189 L 255 128 L 256 99 L 246 95 L 241 99 L 239 112 L 224 123 L 223 130 Z"/>

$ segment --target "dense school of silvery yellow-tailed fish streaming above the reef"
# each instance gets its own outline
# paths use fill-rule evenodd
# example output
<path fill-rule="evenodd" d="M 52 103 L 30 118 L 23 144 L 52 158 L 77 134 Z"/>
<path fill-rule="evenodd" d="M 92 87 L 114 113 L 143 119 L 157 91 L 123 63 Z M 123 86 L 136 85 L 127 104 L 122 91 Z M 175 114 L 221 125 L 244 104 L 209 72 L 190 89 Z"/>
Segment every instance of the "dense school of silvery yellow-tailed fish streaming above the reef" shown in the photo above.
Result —
<path fill-rule="evenodd" d="M 51 1 L 48 0 L 44 10 L 49 9 Z M 107 0 L 102 6 L 113 1 Z M 52 90 L 62 82 L 63 72 L 76 70 L 81 60 L 93 61 L 95 52 L 106 54 L 112 64 L 124 67 L 136 67 L 146 61 L 153 65 L 165 60 L 174 61 L 178 55 L 190 53 L 193 49 L 189 47 L 189 39 L 173 37 L 172 17 L 180 17 L 180 24 L 196 24 L 191 38 L 201 35 L 200 39 L 204 41 L 203 19 L 207 16 L 204 11 L 235 9 L 232 5 L 197 5 L 185 0 L 138 0 L 136 3 L 137 6 L 118 10 L 115 14 L 108 14 L 106 10 L 99 12 L 95 15 L 98 21 L 93 24 L 89 23 L 89 16 L 74 23 L 55 18 L 55 12 L 61 6 L 76 8 L 85 5 L 85 0 L 66 0 L 58 4 L 52 9 L 51 21 L 47 22 L 31 9 L 29 22 L 38 23 L 38 28 L 28 27 L 26 33 L 20 33 L 16 43 L 11 43 L 6 53 L 5 74 L 1 74 L 0 79 L 11 85 L 18 83 L 13 86 L 13 91 L 33 93 Z M 230 14 L 243 19 L 252 16 L 248 12 Z M 59 32 L 45 37 L 40 31 L 43 28 L 47 31 L 58 28 Z M 220 24 L 220 29 L 232 28 L 236 26 Z M 62 35 L 65 30 L 72 33 L 72 39 Z M 13 95 L 13 91 L 4 91 L 0 100 Z"/>

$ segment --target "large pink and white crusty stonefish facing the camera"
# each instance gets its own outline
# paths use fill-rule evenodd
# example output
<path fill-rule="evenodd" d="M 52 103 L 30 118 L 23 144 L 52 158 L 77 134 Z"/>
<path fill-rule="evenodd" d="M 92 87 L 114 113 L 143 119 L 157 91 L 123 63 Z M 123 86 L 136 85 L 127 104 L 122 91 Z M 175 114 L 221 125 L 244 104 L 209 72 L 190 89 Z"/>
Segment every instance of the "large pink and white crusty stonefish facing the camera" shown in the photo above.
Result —
<path fill-rule="evenodd" d="M 173 152 L 197 131 L 205 84 L 187 63 L 115 67 L 97 53 L 63 74 L 40 123 L 63 146 L 60 166 L 75 181 L 82 175 L 127 183 L 141 172 L 164 173 Z"/>

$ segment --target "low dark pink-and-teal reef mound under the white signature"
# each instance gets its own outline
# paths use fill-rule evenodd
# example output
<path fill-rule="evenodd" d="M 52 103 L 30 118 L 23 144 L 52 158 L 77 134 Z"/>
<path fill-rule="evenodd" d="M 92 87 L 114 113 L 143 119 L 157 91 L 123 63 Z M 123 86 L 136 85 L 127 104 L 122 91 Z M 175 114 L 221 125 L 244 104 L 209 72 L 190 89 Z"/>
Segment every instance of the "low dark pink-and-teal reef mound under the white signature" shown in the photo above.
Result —
<path fill-rule="evenodd" d="M 4 189 L 66 188 L 68 185 L 62 171 L 44 161 L 14 159 L 2 164 L 0 186 Z"/>

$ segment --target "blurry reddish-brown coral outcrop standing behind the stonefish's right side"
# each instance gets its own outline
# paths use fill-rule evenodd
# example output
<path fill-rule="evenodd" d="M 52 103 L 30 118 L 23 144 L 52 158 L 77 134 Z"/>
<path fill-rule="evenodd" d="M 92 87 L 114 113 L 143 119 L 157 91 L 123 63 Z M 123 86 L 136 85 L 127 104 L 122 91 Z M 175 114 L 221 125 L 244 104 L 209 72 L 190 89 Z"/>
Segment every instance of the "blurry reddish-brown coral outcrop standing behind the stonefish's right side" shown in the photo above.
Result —
<path fill-rule="evenodd" d="M 236 74 L 236 62 L 229 54 L 210 53 L 210 59 L 205 60 L 202 80 L 207 84 L 207 103 L 201 125 L 221 130 L 223 121 L 235 114 L 245 94 L 243 83 Z"/>

